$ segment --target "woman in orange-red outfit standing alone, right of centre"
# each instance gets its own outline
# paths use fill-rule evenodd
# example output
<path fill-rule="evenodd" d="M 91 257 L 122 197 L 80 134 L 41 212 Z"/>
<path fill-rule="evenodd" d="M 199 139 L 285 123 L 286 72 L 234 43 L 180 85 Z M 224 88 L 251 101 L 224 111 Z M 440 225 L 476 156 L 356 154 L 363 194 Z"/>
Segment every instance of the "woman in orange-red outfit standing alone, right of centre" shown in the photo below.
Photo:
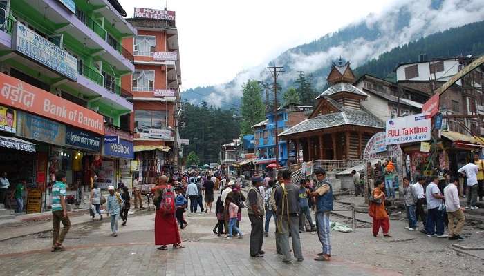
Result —
<path fill-rule="evenodd" d="M 384 237 L 391 237 L 389 234 L 390 221 L 388 219 L 387 210 L 385 210 L 385 184 L 382 179 L 375 181 L 376 188 L 373 189 L 372 195 L 374 200 L 381 199 L 381 203 L 370 201 L 370 207 L 368 214 L 373 217 L 373 236 L 381 237 L 378 235 L 380 227 L 383 230 Z"/>

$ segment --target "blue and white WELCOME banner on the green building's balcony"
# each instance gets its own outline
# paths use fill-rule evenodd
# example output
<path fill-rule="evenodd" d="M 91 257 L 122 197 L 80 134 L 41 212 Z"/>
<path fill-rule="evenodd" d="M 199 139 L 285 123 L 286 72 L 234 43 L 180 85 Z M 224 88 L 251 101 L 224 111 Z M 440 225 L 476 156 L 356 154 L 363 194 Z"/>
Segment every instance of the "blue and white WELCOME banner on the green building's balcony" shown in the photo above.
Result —
<path fill-rule="evenodd" d="M 12 48 L 59 74 L 77 81 L 77 59 L 17 21 Z"/>

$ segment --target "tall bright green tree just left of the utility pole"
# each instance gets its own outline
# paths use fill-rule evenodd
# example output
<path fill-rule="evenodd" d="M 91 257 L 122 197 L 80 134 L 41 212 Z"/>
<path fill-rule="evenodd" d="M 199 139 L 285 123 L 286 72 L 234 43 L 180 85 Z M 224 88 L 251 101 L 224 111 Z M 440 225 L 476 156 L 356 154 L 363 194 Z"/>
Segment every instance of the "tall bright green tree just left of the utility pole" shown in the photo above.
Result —
<path fill-rule="evenodd" d="M 265 107 L 261 96 L 261 86 L 258 81 L 247 81 L 242 86 L 241 134 L 252 133 L 252 126 L 266 118 Z"/>

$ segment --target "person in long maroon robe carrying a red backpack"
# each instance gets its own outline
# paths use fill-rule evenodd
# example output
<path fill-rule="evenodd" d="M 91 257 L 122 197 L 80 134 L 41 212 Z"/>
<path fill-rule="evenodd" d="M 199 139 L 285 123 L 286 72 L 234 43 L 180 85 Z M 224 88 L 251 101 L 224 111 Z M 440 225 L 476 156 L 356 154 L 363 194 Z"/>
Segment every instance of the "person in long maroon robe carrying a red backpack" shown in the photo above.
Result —
<path fill-rule="evenodd" d="M 162 175 L 158 185 L 151 190 L 156 207 L 155 244 L 160 246 L 158 250 L 167 250 L 168 244 L 173 244 L 173 249 L 183 248 L 175 219 L 175 192 L 172 186 L 167 185 L 167 180 L 168 177 Z"/>

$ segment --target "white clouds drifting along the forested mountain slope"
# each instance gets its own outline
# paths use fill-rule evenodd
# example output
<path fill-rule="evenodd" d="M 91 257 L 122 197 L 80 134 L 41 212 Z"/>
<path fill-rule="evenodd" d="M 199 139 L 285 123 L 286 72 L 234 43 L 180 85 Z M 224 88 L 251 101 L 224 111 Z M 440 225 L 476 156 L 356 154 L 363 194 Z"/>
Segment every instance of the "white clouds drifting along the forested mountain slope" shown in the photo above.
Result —
<path fill-rule="evenodd" d="M 399 20 L 402 20 L 400 17 L 409 18 L 407 26 L 399 26 Z M 299 70 L 309 73 L 327 67 L 340 56 L 351 61 L 352 67 L 355 68 L 383 52 L 422 36 L 481 20 L 484 20 L 484 0 L 445 0 L 438 9 L 432 8 L 431 0 L 398 1 L 379 14 L 369 14 L 366 18 L 351 24 L 356 26 L 365 23 L 369 28 L 377 28 L 380 35 L 374 40 L 358 37 L 310 55 L 289 50 L 279 56 L 276 62 L 284 60 L 291 68 L 291 71 L 281 75 L 281 82 L 287 83 L 295 79 Z M 216 105 L 222 104 L 222 101 L 230 101 L 233 97 L 241 97 L 241 86 L 248 79 L 268 77 L 264 73 L 265 68 L 266 65 L 250 68 L 239 73 L 230 83 L 216 86 L 216 91 L 210 94 L 210 101 Z M 321 87 L 324 86 L 326 79 L 319 77 L 315 81 L 317 86 Z"/>

